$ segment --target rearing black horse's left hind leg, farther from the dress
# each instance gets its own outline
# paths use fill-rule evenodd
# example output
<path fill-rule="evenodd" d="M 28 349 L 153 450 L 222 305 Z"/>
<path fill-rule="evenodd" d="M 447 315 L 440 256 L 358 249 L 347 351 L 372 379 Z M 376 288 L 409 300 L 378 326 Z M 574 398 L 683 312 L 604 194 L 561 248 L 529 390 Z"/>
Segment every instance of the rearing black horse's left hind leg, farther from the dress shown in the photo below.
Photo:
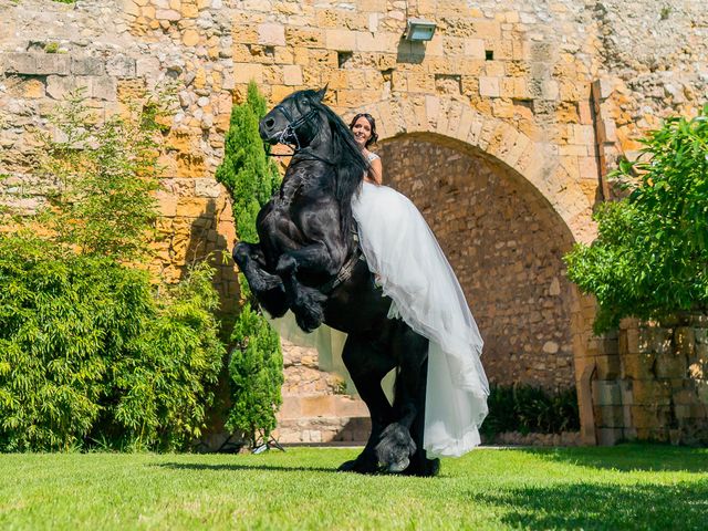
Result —
<path fill-rule="evenodd" d="M 372 433 L 358 457 L 344 462 L 340 470 L 374 473 L 378 471 L 376 444 L 384 428 L 393 419 L 393 408 L 384 394 L 381 381 L 395 367 L 395 360 L 381 345 L 355 334 L 347 337 L 342 358 L 356 391 L 368 407 Z"/>

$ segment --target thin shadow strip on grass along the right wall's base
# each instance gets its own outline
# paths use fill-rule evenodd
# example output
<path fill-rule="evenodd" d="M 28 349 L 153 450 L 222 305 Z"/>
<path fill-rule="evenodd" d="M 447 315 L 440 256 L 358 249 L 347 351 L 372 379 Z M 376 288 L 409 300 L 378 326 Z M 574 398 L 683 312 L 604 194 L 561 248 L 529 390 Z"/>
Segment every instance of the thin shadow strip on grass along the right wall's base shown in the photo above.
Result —
<path fill-rule="evenodd" d="M 524 448 L 518 451 L 552 462 L 606 470 L 708 472 L 707 448 L 627 444 L 594 448 Z"/>

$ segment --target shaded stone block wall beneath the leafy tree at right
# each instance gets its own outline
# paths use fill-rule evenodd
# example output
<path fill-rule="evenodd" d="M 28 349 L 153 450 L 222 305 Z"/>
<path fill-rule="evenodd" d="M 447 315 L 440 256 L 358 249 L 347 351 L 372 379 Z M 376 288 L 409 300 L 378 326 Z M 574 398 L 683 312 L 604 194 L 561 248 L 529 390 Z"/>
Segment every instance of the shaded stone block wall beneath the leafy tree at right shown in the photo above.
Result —
<path fill-rule="evenodd" d="M 597 438 L 708 445 L 708 319 L 673 326 L 623 321 L 597 340 L 592 382 Z"/>

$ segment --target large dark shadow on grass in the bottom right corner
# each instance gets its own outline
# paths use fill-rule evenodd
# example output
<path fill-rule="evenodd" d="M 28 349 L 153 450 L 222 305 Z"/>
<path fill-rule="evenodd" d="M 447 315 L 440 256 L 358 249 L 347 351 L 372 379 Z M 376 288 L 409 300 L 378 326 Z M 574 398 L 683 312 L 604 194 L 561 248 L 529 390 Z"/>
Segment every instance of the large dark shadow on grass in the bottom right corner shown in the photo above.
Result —
<path fill-rule="evenodd" d="M 502 521 L 530 529 L 705 530 L 708 480 L 674 485 L 569 483 L 470 493 L 477 503 L 508 512 Z"/>

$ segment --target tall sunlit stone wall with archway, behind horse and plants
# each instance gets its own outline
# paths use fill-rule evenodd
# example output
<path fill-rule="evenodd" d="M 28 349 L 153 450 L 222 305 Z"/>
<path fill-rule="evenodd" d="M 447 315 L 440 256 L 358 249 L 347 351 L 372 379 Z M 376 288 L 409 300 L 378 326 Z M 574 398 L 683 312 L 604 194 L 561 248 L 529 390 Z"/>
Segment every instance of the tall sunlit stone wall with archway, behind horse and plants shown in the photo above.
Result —
<path fill-rule="evenodd" d="M 431 41 L 402 38 L 414 17 L 437 24 Z M 67 91 L 101 119 L 171 83 L 154 268 L 178 279 L 236 238 L 214 173 L 248 82 L 271 104 L 326 84 L 342 116 L 377 118 L 386 179 L 451 257 L 493 379 L 574 379 L 592 441 L 594 303 L 560 257 L 595 236 L 617 157 L 705 102 L 707 37 L 698 0 L 0 0 L 0 196 L 42 204 L 31 132 Z M 217 283 L 232 311 L 231 266 Z"/>

